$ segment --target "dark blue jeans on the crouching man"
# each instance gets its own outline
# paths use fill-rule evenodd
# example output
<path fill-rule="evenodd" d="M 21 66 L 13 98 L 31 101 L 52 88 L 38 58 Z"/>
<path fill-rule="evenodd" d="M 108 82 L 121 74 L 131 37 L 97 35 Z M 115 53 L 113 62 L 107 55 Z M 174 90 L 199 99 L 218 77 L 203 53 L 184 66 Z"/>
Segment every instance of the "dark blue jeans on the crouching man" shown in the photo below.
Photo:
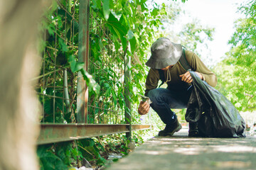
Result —
<path fill-rule="evenodd" d="M 165 124 L 175 123 L 177 120 L 176 114 L 171 111 L 171 108 L 186 108 L 188 99 L 191 95 L 191 87 L 187 90 L 174 91 L 169 89 L 152 89 L 147 96 L 152 103 L 151 108 L 156 111 L 161 120 Z"/>

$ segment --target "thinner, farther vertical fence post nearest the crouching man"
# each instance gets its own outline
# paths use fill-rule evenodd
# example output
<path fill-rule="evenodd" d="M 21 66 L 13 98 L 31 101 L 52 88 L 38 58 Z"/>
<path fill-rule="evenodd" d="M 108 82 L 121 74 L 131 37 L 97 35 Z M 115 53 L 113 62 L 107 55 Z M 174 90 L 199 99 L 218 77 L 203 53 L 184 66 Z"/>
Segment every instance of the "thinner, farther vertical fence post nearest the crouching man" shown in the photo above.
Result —
<path fill-rule="evenodd" d="M 126 133 L 127 139 L 131 141 L 132 137 L 132 116 L 131 116 L 131 102 L 129 101 L 129 98 L 131 98 L 131 94 L 129 92 L 129 81 L 131 79 L 131 57 L 124 52 L 124 102 L 125 102 L 125 108 L 124 108 L 124 115 L 125 115 L 125 121 L 127 124 L 129 124 L 129 132 Z"/>

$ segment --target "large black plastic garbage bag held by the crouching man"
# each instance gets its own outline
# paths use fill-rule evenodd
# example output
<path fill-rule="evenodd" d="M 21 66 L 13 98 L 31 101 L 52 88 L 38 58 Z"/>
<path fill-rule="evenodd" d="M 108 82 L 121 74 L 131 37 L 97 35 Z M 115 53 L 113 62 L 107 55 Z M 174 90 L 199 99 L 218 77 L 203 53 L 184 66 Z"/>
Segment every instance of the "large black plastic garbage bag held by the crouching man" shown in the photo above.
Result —
<path fill-rule="evenodd" d="M 202 81 L 195 72 L 186 121 L 198 124 L 203 137 L 245 137 L 245 120 L 223 94 Z"/>

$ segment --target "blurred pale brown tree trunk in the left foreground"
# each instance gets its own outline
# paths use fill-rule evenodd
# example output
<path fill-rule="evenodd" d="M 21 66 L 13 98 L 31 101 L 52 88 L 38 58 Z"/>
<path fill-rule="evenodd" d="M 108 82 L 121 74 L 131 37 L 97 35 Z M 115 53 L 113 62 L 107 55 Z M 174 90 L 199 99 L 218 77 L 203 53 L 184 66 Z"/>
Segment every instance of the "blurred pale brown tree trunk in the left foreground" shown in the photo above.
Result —
<path fill-rule="evenodd" d="M 39 71 L 36 35 L 43 4 L 40 0 L 0 0 L 0 4 L 0 170 L 36 170 L 41 109 L 31 78 Z"/>

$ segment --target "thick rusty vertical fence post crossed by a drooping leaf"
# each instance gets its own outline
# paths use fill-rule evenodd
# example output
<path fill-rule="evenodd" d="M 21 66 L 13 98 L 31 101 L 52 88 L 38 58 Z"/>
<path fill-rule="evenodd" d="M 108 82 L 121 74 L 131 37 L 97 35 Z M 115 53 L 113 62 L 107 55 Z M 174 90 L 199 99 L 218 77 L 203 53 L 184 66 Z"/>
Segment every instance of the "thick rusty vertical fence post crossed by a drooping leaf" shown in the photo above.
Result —
<path fill-rule="evenodd" d="M 89 21 L 90 0 L 81 0 L 79 6 L 78 62 L 84 62 L 84 69 L 89 66 Z M 87 123 L 88 88 L 82 74 L 78 72 L 78 123 Z"/>

